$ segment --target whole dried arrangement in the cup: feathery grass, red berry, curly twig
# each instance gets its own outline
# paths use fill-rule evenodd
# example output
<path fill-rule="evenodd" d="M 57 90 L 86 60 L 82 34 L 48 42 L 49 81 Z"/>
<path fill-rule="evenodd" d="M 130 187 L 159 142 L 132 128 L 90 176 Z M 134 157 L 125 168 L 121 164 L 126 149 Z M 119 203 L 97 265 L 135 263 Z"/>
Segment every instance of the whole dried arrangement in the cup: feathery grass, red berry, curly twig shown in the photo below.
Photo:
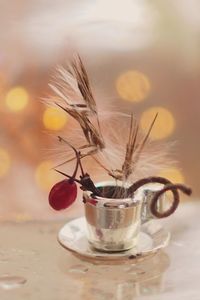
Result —
<path fill-rule="evenodd" d="M 53 103 L 74 118 L 80 125 L 85 140 L 83 145 L 75 147 L 65 138 L 58 136 L 59 142 L 69 147 L 74 156 L 55 167 L 56 172 L 67 178 L 55 184 L 50 191 L 49 203 L 55 210 L 65 209 L 76 200 L 76 183 L 80 185 L 82 190 L 91 191 L 94 196 L 115 199 L 133 197 L 134 193 L 143 185 L 160 183 L 164 187 L 155 193 L 151 201 L 152 213 L 158 218 L 166 217 L 176 210 L 179 203 L 178 190 L 187 195 L 191 194 L 190 188 L 182 184 L 172 184 L 162 177 L 150 176 L 134 181 L 135 175 L 141 167 L 145 167 L 145 164 L 147 165 L 146 168 L 149 169 L 146 174 L 149 174 L 159 164 L 162 167 L 164 163 L 164 150 L 157 151 L 154 154 L 146 151 L 157 114 L 153 118 L 147 133 L 142 137 L 139 123 L 133 118 L 133 114 L 128 116 L 130 126 L 128 131 L 125 130 L 128 132 L 126 144 L 117 143 L 116 140 L 113 140 L 111 134 L 103 134 L 100 114 L 92 94 L 88 75 L 78 55 L 73 58 L 68 69 L 59 68 L 56 82 L 51 85 L 51 88 L 55 92 L 56 98 L 55 100 L 50 99 L 50 105 Z M 124 135 L 126 132 L 124 132 Z M 95 186 L 90 175 L 84 171 L 82 160 L 85 157 L 94 159 L 102 170 L 116 181 L 117 188 L 114 192 L 110 193 L 108 189 L 99 189 Z M 57 169 L 59 166 L 73 160 L 76 160 L 76 165 L 72 175 Z M 80 178 L 76 178 L 78 169 L 81 171 Z M 118 186 L 117 182 L 121 184 Z M 167 211 L 160 213 L 157 211 L 157 201 L 166 191 L 172 192 L 173 204 Z"/>

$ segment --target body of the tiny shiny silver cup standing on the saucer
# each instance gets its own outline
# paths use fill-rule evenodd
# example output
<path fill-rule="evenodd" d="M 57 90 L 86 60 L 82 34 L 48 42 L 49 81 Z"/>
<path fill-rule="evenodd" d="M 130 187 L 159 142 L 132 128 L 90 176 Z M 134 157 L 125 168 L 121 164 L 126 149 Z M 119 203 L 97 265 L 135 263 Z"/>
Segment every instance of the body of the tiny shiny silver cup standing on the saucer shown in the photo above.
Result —
<path fill-rule="evenodd" d="M 100 183 L 97 186 L 108 186 L 108 183 Z M 137 244 L 142 198 L 94 197 L 88 191 L 84 192 L 83 198 L 87 238 L 91 246 L 100 251 L 117 252 L 128 250 Z"/>

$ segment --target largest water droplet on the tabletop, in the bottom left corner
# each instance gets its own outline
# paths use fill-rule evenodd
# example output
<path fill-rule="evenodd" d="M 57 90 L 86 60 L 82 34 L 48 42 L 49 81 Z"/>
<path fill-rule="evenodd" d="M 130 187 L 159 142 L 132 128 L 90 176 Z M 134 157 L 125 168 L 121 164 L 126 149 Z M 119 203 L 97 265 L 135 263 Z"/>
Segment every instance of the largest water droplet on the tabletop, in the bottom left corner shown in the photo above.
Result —
<path fill-rule="evenodd" d="M 4 290 L 15 289 L 25 284 L 26 281 L 27 280 L 21 276 L 3 275 L 0 276 L 0 288 Z"/>

